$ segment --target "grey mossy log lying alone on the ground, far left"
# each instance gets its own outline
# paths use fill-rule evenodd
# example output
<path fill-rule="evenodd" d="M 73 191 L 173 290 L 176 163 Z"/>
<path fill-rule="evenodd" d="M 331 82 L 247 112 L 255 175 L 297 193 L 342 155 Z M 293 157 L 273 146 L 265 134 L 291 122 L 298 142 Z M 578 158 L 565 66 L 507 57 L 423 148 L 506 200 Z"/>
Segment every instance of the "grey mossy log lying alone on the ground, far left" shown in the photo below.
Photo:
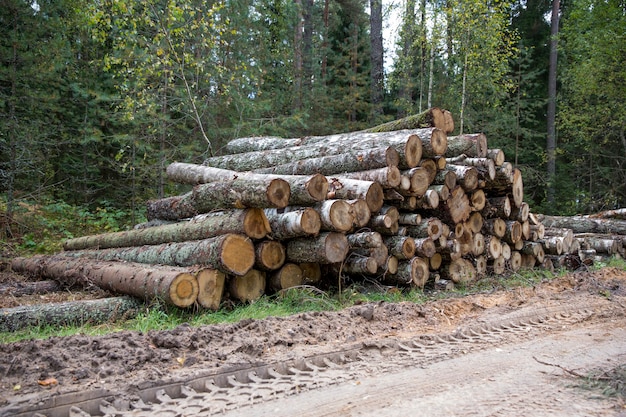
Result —
<path fill-rule="evenodd" d="M 141 303 L 133 297 L 35 304 L 0 309 L 0 332 L 37 326 L 83 326 L 133 318 Z"/>

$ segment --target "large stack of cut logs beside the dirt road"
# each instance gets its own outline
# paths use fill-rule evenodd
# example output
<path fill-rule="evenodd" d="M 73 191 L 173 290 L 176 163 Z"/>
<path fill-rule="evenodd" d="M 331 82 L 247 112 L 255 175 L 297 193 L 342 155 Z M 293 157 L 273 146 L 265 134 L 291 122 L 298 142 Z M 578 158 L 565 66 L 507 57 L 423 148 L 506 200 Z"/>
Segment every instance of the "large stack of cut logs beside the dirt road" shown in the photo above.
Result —
<path fill-rule="evenodd" d="M 224 294 L 324 280 L 450 288 L 577 250 L 530 213 L 501 150 L 452 131 L 449 112 L 430 109 L 363 132 L 237 139 L 203 165 L 169 165 L 194 188 L 149 201 L 148 223 L 12 266 L 217 309 Z"/>

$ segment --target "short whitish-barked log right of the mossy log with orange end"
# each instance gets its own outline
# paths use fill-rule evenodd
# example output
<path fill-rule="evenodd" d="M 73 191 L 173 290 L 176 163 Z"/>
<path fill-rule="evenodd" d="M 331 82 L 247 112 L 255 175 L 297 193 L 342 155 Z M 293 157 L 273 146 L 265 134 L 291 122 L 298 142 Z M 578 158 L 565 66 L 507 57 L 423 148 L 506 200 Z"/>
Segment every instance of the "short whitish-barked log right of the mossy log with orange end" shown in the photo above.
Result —
<path fill-rule="evenodd" d="M 316 235 L 322 227 L 322 220 L 311 207 L 281 213 L 278 209 L 265 209 L 270 224 L 271 236 L 276 240 L 293 239 Z"/>

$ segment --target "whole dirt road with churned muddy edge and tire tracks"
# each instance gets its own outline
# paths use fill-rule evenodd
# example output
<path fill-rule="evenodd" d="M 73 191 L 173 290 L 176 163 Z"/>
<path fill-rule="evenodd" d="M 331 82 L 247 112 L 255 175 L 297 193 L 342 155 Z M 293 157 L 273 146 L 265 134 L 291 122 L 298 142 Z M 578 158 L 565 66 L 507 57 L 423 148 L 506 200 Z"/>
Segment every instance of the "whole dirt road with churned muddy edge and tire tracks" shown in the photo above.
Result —
<path fill-rule="evenodd" d="M 4 344 L 0 416 L 620 415 L 574 385 L 626 364 L 625 313 L 626 271 L 607 268 L 425 305 Z"/>

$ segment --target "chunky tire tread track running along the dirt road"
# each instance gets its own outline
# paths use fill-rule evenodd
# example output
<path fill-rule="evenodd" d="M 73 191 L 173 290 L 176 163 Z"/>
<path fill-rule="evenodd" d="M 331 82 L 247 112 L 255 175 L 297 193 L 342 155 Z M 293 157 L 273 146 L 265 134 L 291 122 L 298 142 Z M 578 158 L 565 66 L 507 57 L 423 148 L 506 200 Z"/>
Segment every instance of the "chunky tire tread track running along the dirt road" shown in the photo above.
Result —
<path fill-rule="evenodd" d="M 515 310 L 495 321 L 474 320 L 449 333 L 414 338 L 383 339 L 349 346 L 345 350 L 262 366 L 249 366 L 137 389 L 115 399 L 113 392 L 65 394 L 36 406 L 9 406 L 1 416 L 211 416 L 275 399 L 298 395 L 367 375 L 425 367 L 459 355 L 546 332 L 570 328 L 584 321 L 602 322 L 623 315 L 616 303 L 587 301 L 576 305 Z"/>

